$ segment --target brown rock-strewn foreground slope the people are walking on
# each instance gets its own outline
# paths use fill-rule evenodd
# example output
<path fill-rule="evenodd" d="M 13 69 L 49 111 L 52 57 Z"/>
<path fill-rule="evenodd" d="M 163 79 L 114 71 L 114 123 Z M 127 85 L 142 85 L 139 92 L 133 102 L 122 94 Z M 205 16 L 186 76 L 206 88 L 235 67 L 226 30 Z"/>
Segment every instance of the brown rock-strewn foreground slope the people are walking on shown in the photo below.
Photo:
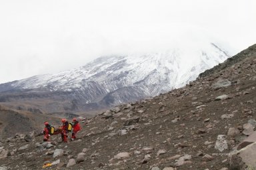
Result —
<path fill-rule="evenodd" d="M 255 70 L 256 44 L 183 88 L 81 122 L 75 141 L 3 139 L 0 169 L 255 169 Z"/>

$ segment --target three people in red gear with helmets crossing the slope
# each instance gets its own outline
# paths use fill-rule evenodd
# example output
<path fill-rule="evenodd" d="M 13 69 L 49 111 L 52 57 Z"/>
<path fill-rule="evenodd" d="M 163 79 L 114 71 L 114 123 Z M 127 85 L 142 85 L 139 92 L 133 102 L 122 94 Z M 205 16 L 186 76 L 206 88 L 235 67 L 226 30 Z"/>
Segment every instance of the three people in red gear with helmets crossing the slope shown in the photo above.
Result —
<path fill-rule="evenodd" d="M 75 140 L 77 137 L 75 136 L 78 131 L 81 130 L 81 126 L 76 118 L 73 118 L 73 122 L 69 123 L 65 118 L 61 119 L 62 126 L 59 126 L 58 129 L 52 129 L 48 122 L 45 122 L 45 128 L 43 129 L 43 141 L 49 141 L 49 137 L 53 134 L 61 133 L 61 139 L 63 142 L 67 142 L 69 131 L 72 132 L 71 140 Z"/>

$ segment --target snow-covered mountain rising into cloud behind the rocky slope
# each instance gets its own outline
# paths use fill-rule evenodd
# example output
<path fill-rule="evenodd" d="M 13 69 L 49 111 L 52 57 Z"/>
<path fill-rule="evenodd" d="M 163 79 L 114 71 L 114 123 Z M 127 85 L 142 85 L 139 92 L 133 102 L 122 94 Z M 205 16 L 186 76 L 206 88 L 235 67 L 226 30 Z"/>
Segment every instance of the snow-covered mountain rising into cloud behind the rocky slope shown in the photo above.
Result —
<path fill-rule="evenodd" d="M 52 100 L 65 101 L 64 105 L 70 106 L 66 110 L 111 106 L 184 86 L 228 57 L 225 50 L 213 43 L 148 54 L 104 56 L 59 74 L 0 84 L 0 102 L 47 98 L 48 112 L 57 112 L 49 109 L 53 108 L 49 106 Z"/>

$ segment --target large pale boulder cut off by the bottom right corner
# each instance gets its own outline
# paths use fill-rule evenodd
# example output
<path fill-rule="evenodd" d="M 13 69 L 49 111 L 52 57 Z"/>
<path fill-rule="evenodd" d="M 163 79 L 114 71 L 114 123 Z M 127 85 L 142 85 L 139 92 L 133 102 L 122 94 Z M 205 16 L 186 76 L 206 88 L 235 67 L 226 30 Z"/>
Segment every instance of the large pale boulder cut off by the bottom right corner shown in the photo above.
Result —
<path fill-rule="evenodd" d="M 231 169 L 256 169 L 256 142 L 243 147 L 231 155 Z"/>

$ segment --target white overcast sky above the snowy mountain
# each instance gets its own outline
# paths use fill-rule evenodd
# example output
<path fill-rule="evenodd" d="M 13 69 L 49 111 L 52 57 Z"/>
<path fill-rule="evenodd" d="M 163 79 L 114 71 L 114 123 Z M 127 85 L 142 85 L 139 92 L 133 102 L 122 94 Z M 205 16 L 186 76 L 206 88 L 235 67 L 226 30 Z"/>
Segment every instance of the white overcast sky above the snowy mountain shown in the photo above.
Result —
<path fill-rule="evenodd" d="M 255 9 L 255 0 L 0 0 L 0 83 L 187 37 L 233 55 L 256 43 Z"/>

